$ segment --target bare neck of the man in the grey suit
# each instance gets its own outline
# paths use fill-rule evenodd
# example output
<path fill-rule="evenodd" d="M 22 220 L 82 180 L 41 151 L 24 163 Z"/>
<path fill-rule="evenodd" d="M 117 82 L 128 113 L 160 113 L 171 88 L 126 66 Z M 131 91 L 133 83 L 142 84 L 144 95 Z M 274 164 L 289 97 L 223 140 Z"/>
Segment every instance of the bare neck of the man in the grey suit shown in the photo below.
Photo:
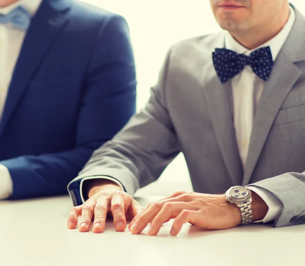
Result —
<path fill-rule="evenodd" d="M 262 25 L 259 28 L 248 30 L 243 33 L 230 33 L 232 37 L 243 47 L 252 50 L 273 37 L 283 29 L 289 19 L 289 5 L 283 9 L 283 12 L 272 21 L 268 21 L 268 26 Z"/>

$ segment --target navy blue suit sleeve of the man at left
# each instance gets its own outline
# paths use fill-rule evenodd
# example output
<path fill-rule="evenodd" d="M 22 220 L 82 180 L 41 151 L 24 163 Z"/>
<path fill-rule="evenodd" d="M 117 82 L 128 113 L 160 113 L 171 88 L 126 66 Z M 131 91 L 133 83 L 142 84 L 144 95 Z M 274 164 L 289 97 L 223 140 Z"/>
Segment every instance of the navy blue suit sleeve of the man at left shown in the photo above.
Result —
<path fill-rule="evenodd" d="M 75 148 L 1 161 L 13 181 L 10 199 L 66 194 L 68 183 L 94 150 L 111 139 L 135 113 L 135 64 L 125 19 L 118 15 L 106 18 L 92 49 Z"/>

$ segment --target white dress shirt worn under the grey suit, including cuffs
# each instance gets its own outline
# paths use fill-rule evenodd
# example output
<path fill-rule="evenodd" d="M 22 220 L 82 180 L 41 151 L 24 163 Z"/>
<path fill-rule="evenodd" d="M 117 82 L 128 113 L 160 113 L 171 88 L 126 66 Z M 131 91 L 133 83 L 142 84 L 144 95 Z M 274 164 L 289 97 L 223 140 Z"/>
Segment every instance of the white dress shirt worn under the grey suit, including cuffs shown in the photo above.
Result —
<path fill-rule="evenodd" d="M 295 12 L 290 6 L 290 16 L 286 25 L 278 35 L 273 37 L 268 42 L 253 50 L 248 50 L 237 41 L 235 41 L 229 32 L 226 32 L 225 46 L 227 49 L 246 55 L 250 55 L 251 52 L 261 47 L 270 46 L 272 58 L 273 61 L 275 61 L 291 31 L 294 20 Z M 253 120 L 264 84 L 265 81 L 259 78 L 249 66 L 246 66 L 241 73 L 239 73 L 231 80 L 234 105 L 234 127 L 236 131 L 238 150 L 243 167 L 245 167 L 246 164 Z M 108 176 L 89 176 L 88 178 L 83 179 L 80 183 L 80 195 L 83 202 L 85 201 L 85 198 L 82 194 L 83 182 L 86 180 L 99 178 L 111 180 L 123 188 L 123 186 L 117 180 L 109 178 Z M 257 222 L 267 223 L 275 220 L 281 212 L 282 202 L 275 195 L 265 189 L 253 186 L 249 186 L 249 189 L 257 193 L 268 205 L 268 212 L 266 216 L 263 220 Z"/>

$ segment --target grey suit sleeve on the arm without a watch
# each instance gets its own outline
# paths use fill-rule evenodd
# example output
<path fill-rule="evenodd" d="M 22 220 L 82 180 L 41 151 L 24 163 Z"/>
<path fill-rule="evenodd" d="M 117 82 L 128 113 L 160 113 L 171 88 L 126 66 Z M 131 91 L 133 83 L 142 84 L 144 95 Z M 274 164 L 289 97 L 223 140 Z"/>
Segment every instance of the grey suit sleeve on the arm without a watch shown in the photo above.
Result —
<path fill-rule="evenodd" d="M 166 107 L 166 80 L 170 52 L 159 82 L 151 88 L 145 108 L 132 117 L 111 141 L 94 152 L 68 190 L 75 205 L 80 199 L 80 182 L 88 176 L 116 179 L 133 195 L 137 189 L 156 181 L 178 155 L 180 146 Z"/>

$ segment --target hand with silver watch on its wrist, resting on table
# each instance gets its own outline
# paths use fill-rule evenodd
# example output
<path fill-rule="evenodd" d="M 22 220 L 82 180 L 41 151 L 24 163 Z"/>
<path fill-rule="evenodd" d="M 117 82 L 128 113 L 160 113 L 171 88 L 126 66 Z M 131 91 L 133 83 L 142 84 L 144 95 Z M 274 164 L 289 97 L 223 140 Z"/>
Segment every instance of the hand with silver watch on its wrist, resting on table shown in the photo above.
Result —
<path fill-rule="evenodd" d="M 225 195 L 177 192 L 149 204 L 130 223 L 132 233 L 140 233 L 150 222 L 149 235 L 156 235 L 162 224 L 175 219 L 170 233 L 178 234 L 189 222 L 206 229 L 227 229 L 241 222 L 240 209 L 226 201 Z"/>

